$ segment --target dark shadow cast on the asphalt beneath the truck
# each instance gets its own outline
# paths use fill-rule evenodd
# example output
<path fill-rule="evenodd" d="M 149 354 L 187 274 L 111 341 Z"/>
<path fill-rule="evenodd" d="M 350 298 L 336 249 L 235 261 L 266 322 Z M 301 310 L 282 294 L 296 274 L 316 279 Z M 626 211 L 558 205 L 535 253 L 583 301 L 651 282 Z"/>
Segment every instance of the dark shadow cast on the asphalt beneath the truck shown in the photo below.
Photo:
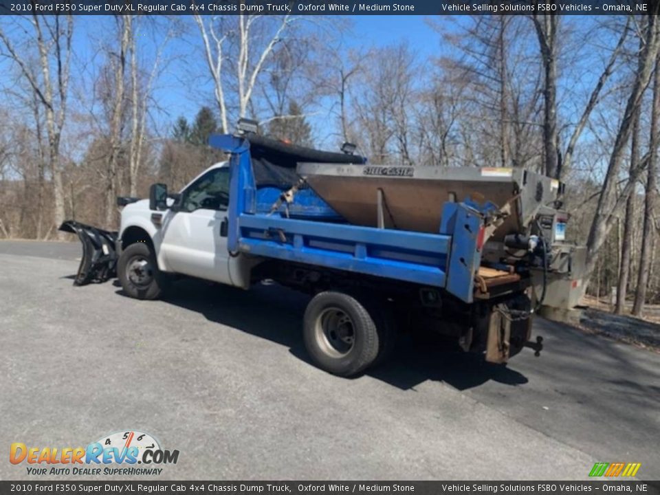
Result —
<path fill-rule="evenodd" d="M 114 281 L 115 287 L 120 287 Z M 290 352 L 310 363 L 303 344 L 301 325 L 309 297 L 278 285 L 259 285 L 243 291 L 193 279 L 175 283 L 164 296 L 166 303 L 196 311 L 212 322 L 289 347 Z M 122 294 L 120 289 L 117 294 Z M 476 355 L 454 351 L 432 333 L 405 333 L 400 336 L 388 362 L 367 375 L 404 390 L 435 380 L 465 390 L 494 380 L 520 385 L 527 378 L 506 366 L 483 362 Z"/>

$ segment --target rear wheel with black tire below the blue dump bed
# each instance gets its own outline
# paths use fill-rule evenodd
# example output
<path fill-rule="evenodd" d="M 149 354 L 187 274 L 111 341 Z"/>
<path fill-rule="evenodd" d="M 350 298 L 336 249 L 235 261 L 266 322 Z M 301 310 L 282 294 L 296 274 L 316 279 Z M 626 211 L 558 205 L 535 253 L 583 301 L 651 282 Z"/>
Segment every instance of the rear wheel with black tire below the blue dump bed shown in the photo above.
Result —
<path fill-rule="evenodd" d="M 307 305 L 303 337 L 316 365 L 343 377 L 371 366 L 381 350 L 379 331 L 366 307 L 341 292 L 321 292 Z"/>

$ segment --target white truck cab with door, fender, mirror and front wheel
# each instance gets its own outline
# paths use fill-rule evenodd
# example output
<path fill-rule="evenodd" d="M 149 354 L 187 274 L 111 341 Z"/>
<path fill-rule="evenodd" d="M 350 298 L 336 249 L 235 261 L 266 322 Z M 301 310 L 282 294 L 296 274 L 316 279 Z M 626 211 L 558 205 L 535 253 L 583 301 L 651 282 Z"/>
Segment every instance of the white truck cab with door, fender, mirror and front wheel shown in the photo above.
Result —
<path fill-rule="evenodd" d="M 144 249 L 133 248 L 135 256 L 126 259 L 122 278 L 131 294 L 153 283 L 154 262 L 163 274 L 249 287 L 254 263 L 245 256 L 230 256 L 227 246 L 229 176 L 229 163 L 219 162 L 176 195 L 168 196 L 165 186 L 158 184 L 153 188 L 155 197 L 122 210 L 120 250 L 144 243 L 154 255 L 144 256 Z M 147 293 L 157 296 L 159 291 L 143 292 Z"/>

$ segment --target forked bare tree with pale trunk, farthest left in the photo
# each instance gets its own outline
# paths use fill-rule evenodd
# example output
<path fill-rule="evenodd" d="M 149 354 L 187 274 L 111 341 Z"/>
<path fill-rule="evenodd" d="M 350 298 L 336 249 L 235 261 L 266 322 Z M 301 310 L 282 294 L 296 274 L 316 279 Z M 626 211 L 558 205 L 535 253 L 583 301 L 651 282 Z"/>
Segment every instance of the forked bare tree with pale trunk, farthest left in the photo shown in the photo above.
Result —
<path fill-rule="evenodd" d="M 36 2 L 32 0 L 33 11 Z M 0 28 L 7 54 L 19 67 L 21 76 L 28 81 L 45 114 L 48 164 L 53 179 L 55 227 L 65 220 L 65 198 L 60 164 L 60 141 L 67 115 L 69 69 L 72 55 L 74 21 L 72 15 L 46 17 L 33 14 L 28 18 L 32 36 L 25 47 L 17 49 L 8 34 Z M 21 27 L 21 29 L 23 29 Z M 39 76 L 30 63 L 30 50 L 36 47 L 39 57 Z M 58 236 L 63 234 L 58 233 Z"/>

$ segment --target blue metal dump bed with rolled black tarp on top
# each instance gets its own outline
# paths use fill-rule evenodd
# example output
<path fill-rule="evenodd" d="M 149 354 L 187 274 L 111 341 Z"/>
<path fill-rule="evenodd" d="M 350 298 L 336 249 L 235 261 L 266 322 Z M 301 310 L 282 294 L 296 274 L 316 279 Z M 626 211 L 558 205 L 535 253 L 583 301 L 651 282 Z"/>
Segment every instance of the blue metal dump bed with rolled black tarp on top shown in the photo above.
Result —
<path fill-rule="evenodd" d="M 210 144 L 231 154 L 231 252 L 440 287 L 472 303 L 492 204 L 445 203 L 437 234 L 351 225 L 305 188 L 295 164 L 360 164 L 362 157 L 287 146 L 256 135 L 215 135 Z M 289 203 L 282 195 L 292 188 Z"/>

